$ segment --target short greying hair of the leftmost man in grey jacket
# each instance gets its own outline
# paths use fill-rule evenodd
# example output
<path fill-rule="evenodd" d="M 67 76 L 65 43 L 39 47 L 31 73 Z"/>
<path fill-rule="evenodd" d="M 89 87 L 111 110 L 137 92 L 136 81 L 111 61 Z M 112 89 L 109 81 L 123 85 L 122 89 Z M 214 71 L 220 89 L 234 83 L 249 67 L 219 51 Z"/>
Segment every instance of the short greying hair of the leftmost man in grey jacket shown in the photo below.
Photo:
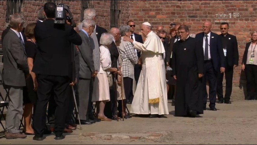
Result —
<path fill-rule="evenodd" d="M 19 24 L 21 26 L 24 26 L 25 24 L 25 19 L 21 14 L 12 14 L 9 17 L 9 25 L 11 28 L 17 29 L 19 27 Z"/>

